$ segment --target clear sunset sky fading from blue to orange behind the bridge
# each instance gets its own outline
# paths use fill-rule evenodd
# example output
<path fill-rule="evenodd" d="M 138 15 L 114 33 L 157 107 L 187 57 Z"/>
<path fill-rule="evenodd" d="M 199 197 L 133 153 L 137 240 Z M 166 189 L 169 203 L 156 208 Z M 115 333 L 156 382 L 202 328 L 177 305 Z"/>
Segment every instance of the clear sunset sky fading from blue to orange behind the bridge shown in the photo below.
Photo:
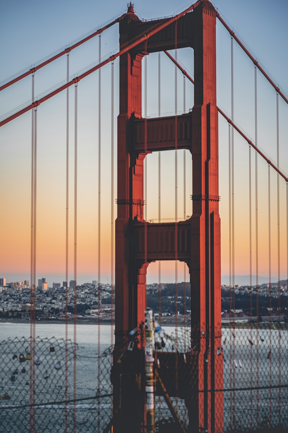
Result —
<path fill-rule="evenodd" d="M 135 2 L 135 11 L 141 18 L 157 18 L 171 15 L 185 9 L 188 5 L 179 1 L 165 0 Z M 288 2 L 285 0 L 243 0 L 215 1 L 219 12 L 230 23 L 231 27 L 244 40 L 257 59 L 265 66 L 276 83 L 288 93 Z M 119 16 L 127 10 L 126 2 L 110 1 L 97 2 L 83 0 L 81 3 L 72 1 L 28 2 L 26 0 L 10 0 L 1 3 L 0 36 L 1 36 L 1 68 L 0 81 L 4 81 L 13 74 L 30 68 L 42 58 L 59 51 L 60 48 L 71 44 L 76 39 Z M 118 49 L 118 28 L 114 26 L 102 36 L 102 57 L 110 55 Z M 178 58 L 193 75 L 193 56 L 187 50 L 178 50 Z M 83 68 L 98 61 L 98 38 L 87 42 L 81 48 L 77 48 L 70 54 L 70 76 L 73 77 Z M 148 114 L 157 113 L 157 58 L 150 55 L 148 58 Z M 161 57 L 161 111 L 173 112 L 174 91 L 169 94 L 165 88 L 174 85 L 174 67 L 164 55 Z M 230 36 L 221 23 L 217 23 L 217 100 L 218 104 L 231 113 L 231 63 L 230 63 Z M 110 169 L 110 123 L 104 120 L 105 115 L 110 119 L 111 100 L 111 67 L 107 65 L 102 72 L 102 185 L 103 189 L 103 230 L 109 233 L 110 215 L 109 198 L 106 203 L 104 195 L 110 196 L 110 178 L 107 173 Z M 45 92 L 66 79 L 66 58 L 58 59 L 54 64 L 47 66 L 35 74 L 35 95 Z M 275 161 L 276 160 L 276 136 L 275 136 L 275 90 L 267 84 L 261 74 L 257 75 L 258 84 L 258 145 Z M 178 110 L 183 110 L 182 74 L 178 75 Z M 118 107 L 118 66 L 115 62 L 115 118 Z M 81 85 L 80 85 L 81 84 Z M 73 174 L 73 91 L 70 90 L 70 173 Z M 16 84 L 13 88 L 6 89 L 0 94 L 0 116 L 13 110 L 31 98 L 31 77 Z M 93 74 L 79 83 L 79 223 L 91 227 L 89 231 L 79 228 L 79 282 L 97 279 L 97 167 L 98 167 L 98 75 Z M 38 110 L 38 272 L 37 278 L 46 276 L 48 282 L 63 281 L 65 275 L 65 258 L 63 256 L 64 238 L 62 233 L 65 224 L 65 146 L 66 146 L 66 105 L 65 95 L 58 95 Z M 254 70 L 252 62 L 234 44 L 234 119 L 249 136 L 254 138 Z M 44 107 L 45 106 L 45 107 Z M 193 106 L 193 86 L 186 84 L 186 110 Z M 280 120 L 280 167 L 288 172 L 288 109 L 282 100 L 279 100 Z M 45 120 L 44 120 L 45 119 Z M 116 137 L 116 121 L 115 121 Z M 222 218 L 222 273 L 227 275 L 227 211 L 228 211 L 228 127 L 227 123 L 219 119 L 219 186 L 222 201 L 220 213 Z M 0 131 L 0 161 L 1 161 L 1 187 L 0 202 L 4 204 L 5 211 L 1 211 L 3 224 L 0 225 L 0 239 L 5 239 L 6 252 L 0 256 L 0 274 L 7 280 L 29 278 L 29 181 L 30 181 L 30 113 L 22 116 L 22 119 L 13 121 L 10 125 L 1 128 Z M 116 148 L 116 140 L 115 140 Z M 247 275 L 249 273 L 249 261 L 247 260 L 249 239 L 247 238 L 247 155 L 246 143 L 235 136 L 235 232 L 239 234 L 235 239 L 235 247 L 239 247 L 236 255 L 236 274 Z M 182 154 L 181 154 L 182 155 Z M 89 156 L 89 158 L 87 158 Z M 115 158 L 116 154 L 114 155 Z M 171 156 L 171 155 L 170 155 Z M 174 169 L 173 157 L 163 157 L 166 169 Z M 115 167 L 116 167 L 116 159 Z M 169 165 L 170 164 L 170 165 Z M 179 158 L 179 165 L 181 157 Z M 255 164 L 254 159 L 252 164 Z M 148 219 L 155 219 L 157 210 L 157 191 L 153 188 L 153 180 L 158 178 L 156 173 L 157 155 L 149 155 L 148 158 Z M 163 165 L 164 167 L 164 165 Z M 168 167 L 168 168 L 167 168 Z M 182 166 L 181 166 L 182 167 Z M 164 170 L 164 168 L 163 168 Z M 179 170 L 179 173 L 181 171 Z M 71 187 L 73 177 L 71 174 Z M 260 179 L 260 215 L 261 215 L 261 239 L 262 249 L 267 249 L 267 167 L 259 163 Z M 180 176 L 180 174 L 179 174 Z M 252 173 L 254 176 L 254 173 Z M 109 177 L 109 176 L 108 176 Z M 190 212 L 191 202 L 191 161 L 187 161 L 187 214 Z M 162 180 L 161 180 L 162 181 Z M 272 176 L 272 186 L 275 191 L 276 178 Z M 165 189 L 165 186 L 166 189 Z M 179 177 L 179 183 L 181 179 Z M 87 189 L 87 185 L 89 188 Z M 104 187 L 103 187 L 104 188 Z M 169 189 L 170 188 L 170 189 Z M 171 209 L 168 204 L 171 197 L 171 188 L 174 191 L 174 183 L 167 183 L 163 174 L 162 217 L 170 218 L 174 215 L 174 203 Z M 281 194 L 285 193 L 281 185 Z M 282 191 L 283 190 L 283 191 Z M 57 194 L 55 193 L 57 191 Z M 107 192 L 108 191 L 108 192 Z M 170 191 L 170 192 L 169 192 Z M 73 191 L 72 191 L 73 192 Z M 154 194 L 154 195 L 153 195 Z M 180 194 L 179 194 L 180 195 Z M 174 196 L 174 192 L 173 192 Z M 244 198 L 246 197 L 246 198 Z M 262 198 L 263 197 L 263 200 Z M 283 196 L 284 197 L 284 196 Z M 254 196 L 252 197 L 254 198 Z M 70 197 L 72 204 L 73 195 Z M 180 198 L 179 198 L 180 200 Z M 275 193 L 272 197 L 272 222 L 275 223 Z M 149 204 L 151 203 L 151 204 Z M 284 203 L 284 202 L 283 202 Z M 183 207 L 179 201 L 179 209 Z M 3 209 L 3 208 L 2 208 Z M 7 213 L 8 211 L 8 213 Z M 72 206 L 71 206 L 72 212 Z M 285 206 L 281 208 L 281 233 L 282 249 L 285 251 Z M 180 211 L 178 212 L 180 214 Z M 24 217 L 25 215 L 25 217 Z M 116 215 L 116 207 L 115 207 Z M 107 220 L 107 221 L 106 221 Z M 73 213 L 70 221 L 73 223 Z M 254 217 L 253 217 L 254 221 Z M 244 235 L 241 234 L 241 226 L 244 224 Z M 254 224 L 254 223 L 253 223 Z M 72 224 L 71 224 L 72 228 Z M 255 229 L 253 225 L 253 230 Z M 46 233 L 45 236 L 43 233 Z M 91 233 L 93 234 L 91 235 Z M 25 235 L 23 235 L 25 233 Z M 275 231 L 272 235 L 275 235 Z M 263 235 L 263 236 L 262 236 Z M 63 232 L 64 236 L 64 232 Z M 249 236 L 249 233 L 248 233 Z M 19 239 L 17 245 L 16 239 Z M 81 245 L 82 239 L 82 245 Z M 106 238 L 105 238 L 106 239 Z M 254 234 L 253 234 L 254 239 Z M 71 232 L 71 241 L 73 233 Z M 107 242 L 106 242 L 107 241 Z M 101 280 L 109 277 L 110 239 L 102 240 L 103 265 Z M 73 242 L 72 242 L 73 243 Z M 107 245 L 105 245 L 107 243 Z M 245 244 L 245 247 L 243 246 Z M 72 245 L 72 244 L 71 244 Z M 253 241 L 253 249 L 254 241 Z M 273 246 L 274 248 L 274 246 Z M 20 250 L 20 251 L 19 251 Z M 55 251 L 56 250 L 56 251 Z M 53 252 L 54 251 L 54 252 Z M 72 251 L 72 250 L 71 250 Z M 106 252 L 105 252 L 106 251 Z M 273 250 L 274 251 L 274 250 Z M 275 252 L 273 256 L 275 257 Z M 284 253 L 283 253 L 284 254 Z M 7 259 L 7 256 L 9 259 Z M 87 258 L 88 257 L 88 258 Z M 73 254 L 71 254 L 71 260 Z M 283 255 L 282 274 L 285 275 L 286 256 Z M 59 263 L 61 271 L 59 271 Z M 267 275 L 267 254 L 263 256 L 260 273 Z M 253 259 L 253 267 L 255 265 Z M 273 269 L 277 268 L 275 262 Z M 62 271 L 63 269 L 63 271 Z M 71 262 L 71 269 L 73 264 Z M 157 269 L 149 267 L 148 281 L 158 279 Z M 253 271 L 255 273 L 255 271 Z M 274 271 L 275 275 L 275 271 Z M 72 278 L 72 275 L 70 275 Z M 171 276 L 167 277 L 168 280 Z M 180 277 L 181 278 L 181 277 Z M 172 278 L 173 279 L 173 278 Z M 106 280 L 107 281 L 107 280 Z"/>

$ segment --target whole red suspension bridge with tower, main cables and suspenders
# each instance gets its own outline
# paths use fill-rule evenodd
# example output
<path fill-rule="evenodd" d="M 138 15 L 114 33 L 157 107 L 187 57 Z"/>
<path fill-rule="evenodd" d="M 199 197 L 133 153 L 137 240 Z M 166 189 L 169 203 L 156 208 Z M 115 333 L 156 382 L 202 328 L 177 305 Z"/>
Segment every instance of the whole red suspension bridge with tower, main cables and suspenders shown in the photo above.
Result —
<path fill-rule="evenodd" d="M 225 27 L 231 36 L 231 116 L 217 105 L 216 98 L 216 21 Z M 119 50 L 107 58 L 101 57 L 101 35 L 111 26 L 119 24 Z M 70 78 L 70 55 L 73 50 L 88 40 L 99 38 L 99 61 L 97 65 L 85 70 L 78 76 Z M 251 139 L 234 118 L 234 64 L 233 50 L 237 44 L 248 56 L 254 66 L 255 96 L 255 139 Z M 194 78 L 184 65 L 177 60 L 177 50 L 193 48 Z M 172 116 L 161 116 L 160 110 L 160 55 L 158 57 L 158 116 L 147 115 L 147 56 L 151 53 L 165 52 L 175 67 L 175 113 Z M 171 54 L 172 52 L 172 54 Z M 35 77 L 37 71 L 66 56 L 66 83 L 35 99 Z M 119 112 L 117 117 L 117 217 L 114 215 L 114 62 L 119 61 Z M 144 72 L 142 65 L 144 63 Z M 97 409 L 95 409 L 94 429 L 97 431 L 143 431 L 154 432 L 155 399 L 159 399 L 161 414 L 161 397 L 171 412 L 174 431 L 237 431 L 237 398 L 239 391 L 236 382 L 237 368 L 243 368 L 239 356 L 239 348 L 235 343 L 237 325 L 235 324 L 235 206 L 234 206 L 234 135 L 239 134 L 246 142 L 249 152 L 249 261 L 250 261 L 250 324 L 245 330 L 247 345 L 247 385 L 241 391 L 249 391 L 250 408 L 246 417 L 250 420 L 250 429 L 261 427 L 261 390 L 268 389 L 269 428 L 284 426 L 287 428 L 287 413 L 281 411 L 283 401 L 287 400 L 287 326 L 281 323 L 281 288 L 280 288 L 280 238 L 287 238 L 287 285 L 288 285 L 288 177 L 279 164 L 279 99 L 288 103 L 284 91 L 273 81 L 259 61 L 251 54 L 242 40 L 230 28 L 217 9 L 207 0 L 201 0 L 175 16 L 151 21 L 141 20 L 134 12 L 133 4 L 128 6 L 127 13 L 117 17 L 106 26 L 98 29 L 74 45 L 65 48 L 51 58 L 33 66 L 10 81 L 0 86 L 0 91 L 8 89 L 16 82 L 29 75 L 32 76 L 31 103 L 19 110 L 9 113 L 0 120 L 0 127 L 13 122 L 24 113 L 31 112 L 31 322 L 29 342 L 29 428 L 31 432 L 39 431 L 37 427 L 37 384 L 36 357 L 36 224 L 37 224 L 37 123 L 41 116 L 41 107 L 47 100 L 61 92 L 66 92 L 66 336 L 63 413 L 65 431 L 79 430 L 77 425 L 77 156 L 78 156 L 78 84 L 90 74 L 98 71 L 98 305 L 101 304 L 101 193 L 107 190 L 101 184 L 101 70 L 111 65 L 111 307 L 113 310 L 115 297 L 115 314 L 111 314 L 111 345 L 108 352 L 101 352 L 100 346 L 100 314 L 98 314 L 98 358 Z M 194 106 L 187 113 L 178 114 L 177 108 L 177 71 L 180 70 L 185 82 L 194 85 Z M 277 162 L 273 162 L 260 149 L 257 142 L 257 77 L 262 74 L 275 91 L 276 100 L 276 137 Z M 144 91 L 142 92 L 142 76 Z M 74 335 L 73 345 L 68 340 L 68 251 L 69 251 L 69 120 L 71 117 L 69 88 L 74 87 Z M 7 90 L 6 90 L 7 91 Z M 106 90 L 105 90 L 106 91 Z M 170 90 L 171 91 L 171 90 Z M 144 113 L 142 113 L 142 98 Z M 144 114 L 144 115 L 143 115 Z M 229 266 L 230 266 L 230 323 L 228 331 L 221 326 L 221 254 L 220 254 L 220 216 L 218 188 L 218 115 L 228 124 L 228 187 L 229 187 Z M 271 114 L 272 115 L 272 114 Z M 161 152 L 175 152 L 175 218 L 173 222 L 161 221 L 160 169 Z M 192 216 L 186 215 L 184 199 L 184 219 L 179 220 L 178 210 L 178 162 L 179 151 L 184 150 L 184 197 L 186 188 L 185 164 L 187 155 L 192 157 Z M 158 152 L 159 168 L 159 203 L 158 223 L 147 220 L 147 155 Z M 187 152 L 187 154 L 185 153 Z M 255 152 L 255 191 L 252 191 L 252 160 Z M 264 161 L 267 165 L 267 178 L 260 179 L 257 165 Z M 270 185 L 270 173 L 277 176 L 276 191 Z M 162 171 L 163 174 L 163 171 Z M 269 305 L 271 307 L 271 194 L 277 197 L 277 261 L 278 261 L 278 300 L 279 320 L 277 327 L 272 327 L 271 314 L 267 327 L 269 368 L 268 385 L 263 385 L 261 378 L 261 342 L 263 329 L 259 321 L 258 284 L 258 185 L 268 184 L 268 226 L 266 227 L 269 244 Z M 285 193 L 283 193 L 285 185 Z M 155 185 L 157 188 L 157 185 Z M 252 203 L 255 195 L 255 235 L 256 235 L 256 324 L 252 324 Z M 280 203 L 286 203 L 286 225 L 280 232 Z M 114 251 L 115 236 L 115 251 Z M 159 261 L 159 323 L 155 324 L 146 311 L 146 273 L 149 263 Z M 175 263 L 175 335 L 165 335 L 161 330 L 161 267 L 160 261 Z M 190 275 L 191 325 L 187 324 L 186 304 L 184 312 L 184 331 L 177 323 L 178 317 L 178 267 L 179 262 L 187 265 Z M 114 281 L 115 275 L 115 281 Z M 184 271 L 184 299 L 186 302 L 186 275 Z M 288 304 L 287 304 L 288 306 Z M 148 306 L 149 307 L 149 306 Z M 146 311 L 146 313 L 145 313 Z M 270 309 L 271 311 L 271 309 Z M 287 310 L 286 310 L 287 311 Z M 287 313 L 286 313 L 287 317 Z M 154 323 L 154 324 L 153 324 Z M 286 322 L 287 323 L 287 322 Z M 189 328 L 189 330 L 188 330 Z M 273 331 L 276 331 L 273 332 Z M 187 337 L 187 332 L 189 337 Z M 161 334 L 162 333 L 162 334 Z M 226 336 L 227 333 L 227 336 Z M 225 334 L 225 339 L 224 335 Z M 114 337 L 115 335 L 115 337 Z M 151 341 L 150 341 L 151 337 Z M 283 338 L 284 337 L 284 338 Z M 115 341 L 114 341 L 115 339 Z M 158 339 L 158 340 L 157 340 Z M 167 340 L 167 348 L 161 352 L 157 342 Z M 263 340 L 263 341 L 262 341 Z M 274 342 L 276 340 L 276 343 Z M 148 348 L 153 342 L 152 352 Z M 227 343 L 228 342 L 228 343 Z M 275 344 L 274 344 L 275 343 Z M 163 343 L 166 344 L 166 343 Z M 150 346 L 149 346 L 150 345 Z M 225 346 L 228 359 L 225 359 Z M 150 347 L 151 348 L 151 347 Z M 153 350 L 154 349 L 154 350 Z M 40 350 L 40 349 L 39 349 Z M 277 368 L 272 366 L 272 352 L 277 352 Z M 53 351 L 51 351 L 53 352 Z M 275 356 L 275 354 L 273 355 Z M 70 365 L 73 359 L 73 366 Z M 226 357 L 227 358 L 227 357 Z M 23 358 L 22 358 L 23 359 Z M 109 360 L 109 368 L 107 368 Z M 20 361 L 21 362 L 21 361 Z M 228 364 L 225 367 L 224 363 Z M 101 388 L 103 365 L 106 376 L 111 369 L 109 397 L 110 420 L 101 421 Z M 246 365 L 246 367 L 247 367 Z M 148 367 L 151 367 L 149 370 Z M 164 368 L 168 371 L 164 372 Z M 73 398 L 68 397 L 68 369 L 73 370 Z M 286 375 L 283 376 L 283 369 Z M 225 371 L 228 371 L 229 386 L 225 388 Z M 107 373 L 108 372 L 108 373 Z M 183 374 L 185 373 L 185 374 Z M 272 376 L 278 375 L 278 381 L 272 385 Z M 12 377 L 12 376 L 11 376 Z M 283 383 L 284 377 L 284 383 Z M 274 384 L 274 382 L 273 382 Z M 151 388 L 152 387 L 152 388 Z M 264 387 L 264 388 L 263 388 Z M 272 415 L 272 390 L 278 392 L 278 416 L 275 422 Z M 226 394 L 225 394 L 226 391 Z M 229 394 L 229 402 L 225 395 Z M 248 395 L 247 394 L 247 395 Z M 273 394 L 274 395 L 274 394 Z M 55 400 L 54 400 L 55 401 Z M 184 410 L 180 410 L 180 401 Z M 52 400 L 53 402 L 53 400 Z M 49 402 L 48 402 L 49 403 Z M 69 404 L 73 404 L 73 418 L 69 417 Z M 52 404 L 52 403 L 51 403 Z M 162 403 L 163 404 L 163 403 Z M 227 409 L 226 405 L 229 405 Z M 9 401 L 11 408 L 11 401 Z M 53 406 L 53 404 L 52 404 Z M 3 417 L 9 417 L 9 409 L 5 409 Z M 3 406 L 4 408 L 4 406 Z M 287 409 L 287 408 L 286 408 Z M 224 413 L 229 413 L 229 422 L 225 425 Z M 262 409 L 263 410 L 263 409 Z M 287 412 L 287 410 L 286 410 Z M 3 412 L 4 414 L 4 412 Z M 152 415 L 151 415 L 152 414 Z M 184 414 L 183 416 L 181 414 Z M 181 418 L 182 417 L 182 418 Z M 159 415 L 161 418 L 161 415 Z M 7 421 L 6 421 L 7 422 Z M 105 425 L 104 425 L 105 424 Z M 158 431 L 161 430 L 158 424 Z M 168 427 L 163 427 L 163 429 Z M 17 430 L 20 431 L 20 430 Z M 55 431 L 55 430 L 54 430 Z M 59 430 L 60 431 L 60 430 Z M 240 430 L 241 431 L 241 430 Z"/>

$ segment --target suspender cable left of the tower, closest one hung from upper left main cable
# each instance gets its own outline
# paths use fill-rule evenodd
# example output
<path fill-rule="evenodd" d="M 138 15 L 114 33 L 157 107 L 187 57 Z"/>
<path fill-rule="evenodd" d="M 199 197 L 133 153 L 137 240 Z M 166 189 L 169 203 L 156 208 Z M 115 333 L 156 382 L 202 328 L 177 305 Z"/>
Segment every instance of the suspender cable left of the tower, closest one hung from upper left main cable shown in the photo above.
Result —
<path fill-rule="evenodd" d="M 99 63 L 101 63 L 101 33 L 99 34 Z M 101 304 L 101 68 L 99 69 L 98 82 L 98 387 L 100 395 L 100 304 Z M 100 399 L 98 398 L 98 432 L 100 432 Z"/>

